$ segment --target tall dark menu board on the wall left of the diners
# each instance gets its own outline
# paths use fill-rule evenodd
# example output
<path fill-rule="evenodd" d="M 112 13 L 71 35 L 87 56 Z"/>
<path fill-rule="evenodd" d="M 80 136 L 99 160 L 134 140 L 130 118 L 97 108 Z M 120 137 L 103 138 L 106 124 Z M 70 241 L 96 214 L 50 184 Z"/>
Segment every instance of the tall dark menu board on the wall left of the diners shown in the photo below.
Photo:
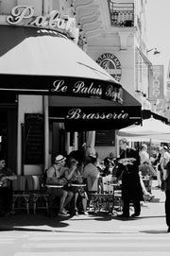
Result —
<path fill-rule="evenodd" d="M 43 120 L 42 114 L 25 114 L 25 164 L 42 164 L 44 162 Z"/>

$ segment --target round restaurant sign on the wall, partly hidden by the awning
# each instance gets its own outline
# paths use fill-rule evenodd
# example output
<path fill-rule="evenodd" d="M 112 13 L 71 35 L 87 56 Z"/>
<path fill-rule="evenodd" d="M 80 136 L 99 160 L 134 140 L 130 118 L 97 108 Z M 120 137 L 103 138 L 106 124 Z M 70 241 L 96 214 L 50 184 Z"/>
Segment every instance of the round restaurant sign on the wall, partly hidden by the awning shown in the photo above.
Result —
<path fill-rule="evenodd" d="M 121 63 L 117 57 L 111 53 L 102 54 L 96 62 L 105 69 L 111 77 L 120 81 L 122 76 Z"/>

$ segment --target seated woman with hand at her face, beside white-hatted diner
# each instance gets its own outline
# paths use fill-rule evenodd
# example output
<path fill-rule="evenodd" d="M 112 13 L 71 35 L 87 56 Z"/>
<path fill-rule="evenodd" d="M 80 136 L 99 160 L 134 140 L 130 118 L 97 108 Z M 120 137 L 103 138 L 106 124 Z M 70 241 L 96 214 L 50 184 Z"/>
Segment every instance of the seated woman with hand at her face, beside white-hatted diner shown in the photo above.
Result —
<path fill-rule="evenodd" d="M 74 159 L 73 157 L 70 157 L 68 159 L 68 162 L 67 162 L 68 168 L 65 170 L 65 179 L 67 179 L 68 182 L 70 182 L 72 184 L 82 184 L 83 183 L 83 179 L 82 179 L 82 176 L 80 175 L 80 171 L 79 171 L 77 165 L 78 165 L 78 162 L 76 161 L 76 159 Z M 76 215 L 78 214 L 77 198 L 78 198 L 78 196 L 80 196 L 81 202 L 82 202 L 83 213 L 85 215 L 88 215 L 88 212 L 87 212 L 88 196 L 87 196 L 87 193 L 85 192 L 84 188 L 81 186 L 79 186 L 79 187 L 71 186 L 70 189 L 75 194 L 75 200 L 74 200 L 75 214 Z"/>

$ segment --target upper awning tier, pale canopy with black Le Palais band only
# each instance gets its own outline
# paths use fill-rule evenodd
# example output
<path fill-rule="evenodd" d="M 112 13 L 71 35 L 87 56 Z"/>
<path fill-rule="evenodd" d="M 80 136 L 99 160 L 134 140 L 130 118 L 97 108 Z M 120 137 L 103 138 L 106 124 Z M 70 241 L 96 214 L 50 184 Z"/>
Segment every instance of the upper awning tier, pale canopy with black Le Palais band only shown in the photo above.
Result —
<path fill-rule="evenodd" d="M 121 101 L 121 85 L 59 32 L 0 26 L 0 37 L 0 79 L 5 81 L 0 84 L 1 92 L 73 96 L 76 85 L 81 92 L 75 96 L 112 100 L 118 95 Z M 107 95 L 109 86 L 112 91 Z"/>

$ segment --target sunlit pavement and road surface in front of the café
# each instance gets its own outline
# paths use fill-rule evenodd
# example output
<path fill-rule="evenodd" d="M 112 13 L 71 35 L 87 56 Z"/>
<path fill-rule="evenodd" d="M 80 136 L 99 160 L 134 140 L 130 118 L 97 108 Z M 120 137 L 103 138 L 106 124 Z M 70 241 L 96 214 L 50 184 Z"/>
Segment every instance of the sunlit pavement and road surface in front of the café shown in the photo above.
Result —
<path fill-rule="evenodd" d="M 72 218 L 16 214 L 0 219 L 1 255 L 169 255 L 170 234 L 164 217 L 164 194 L 142 207 L 138 218 L 106 213 Z"/>

